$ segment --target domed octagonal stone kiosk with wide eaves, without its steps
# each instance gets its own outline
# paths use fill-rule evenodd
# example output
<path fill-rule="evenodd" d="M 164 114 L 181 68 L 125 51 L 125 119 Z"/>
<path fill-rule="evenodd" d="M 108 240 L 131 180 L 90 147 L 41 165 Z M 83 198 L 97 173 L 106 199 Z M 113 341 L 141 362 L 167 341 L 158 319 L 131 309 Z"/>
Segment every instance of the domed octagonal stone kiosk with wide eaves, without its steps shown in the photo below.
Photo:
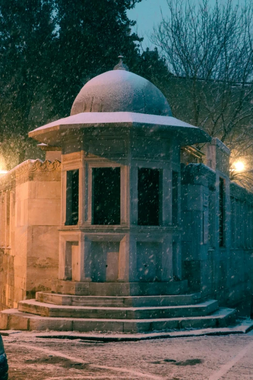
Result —
<path fill-rule="evenodd" d="M 108 296 L 185 289 L 180 147 L 210 141 L 206 132 L 174 118 L 158 88 L 120 57 L 82 87 L 69 117 L 29 135 L 62 147 L 63 286 L 78 281 Z"/>

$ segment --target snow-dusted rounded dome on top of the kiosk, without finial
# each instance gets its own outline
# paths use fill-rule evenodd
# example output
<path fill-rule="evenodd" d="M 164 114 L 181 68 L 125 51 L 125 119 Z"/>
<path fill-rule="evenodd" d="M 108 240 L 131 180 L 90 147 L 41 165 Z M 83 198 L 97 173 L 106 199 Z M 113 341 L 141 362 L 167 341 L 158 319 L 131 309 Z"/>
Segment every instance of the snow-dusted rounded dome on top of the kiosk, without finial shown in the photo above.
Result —
<path fill-rule="evenodd" d="M 136 112 L 172 116 L 168 101 L 148 80 L 126 70 L 107 71 L 87 82 L 70 115 L 82 112 Z"/>

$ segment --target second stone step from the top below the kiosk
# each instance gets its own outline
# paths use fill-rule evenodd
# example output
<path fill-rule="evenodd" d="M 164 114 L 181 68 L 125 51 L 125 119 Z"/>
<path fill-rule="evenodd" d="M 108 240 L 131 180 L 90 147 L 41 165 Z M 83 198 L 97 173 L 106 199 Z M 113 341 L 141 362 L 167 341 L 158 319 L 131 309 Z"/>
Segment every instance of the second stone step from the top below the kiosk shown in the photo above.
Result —
<path fill-rule="evenodd" d="M 53 305 L 65 306 L 108 306 L 108 307 L 142 307 L 142 306 L 180 306 L 193 305 L 200 302 L 200 293 L 178 296 L 70 296 L 51 292 L 37 292 L 36 300 Z"/>

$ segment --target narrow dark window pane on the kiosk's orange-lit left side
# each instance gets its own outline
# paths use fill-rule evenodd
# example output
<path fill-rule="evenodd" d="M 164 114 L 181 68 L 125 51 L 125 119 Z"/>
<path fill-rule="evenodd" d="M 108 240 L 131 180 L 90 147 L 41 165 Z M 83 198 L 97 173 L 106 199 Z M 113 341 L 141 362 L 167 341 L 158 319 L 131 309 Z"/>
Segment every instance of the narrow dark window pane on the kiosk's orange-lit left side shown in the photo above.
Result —
<path fill-rule="evenodd" d="M 67 171 L 66 226 L 78 224 L 79 212 L 79 170 Z"/>

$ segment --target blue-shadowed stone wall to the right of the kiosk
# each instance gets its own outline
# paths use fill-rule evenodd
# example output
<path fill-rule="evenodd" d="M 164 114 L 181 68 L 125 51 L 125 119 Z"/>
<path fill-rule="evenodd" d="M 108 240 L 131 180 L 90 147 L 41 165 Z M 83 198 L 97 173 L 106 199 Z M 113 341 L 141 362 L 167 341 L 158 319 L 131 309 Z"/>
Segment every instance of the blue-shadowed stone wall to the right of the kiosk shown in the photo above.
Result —
<path fill-rule="evenodd" d="M 223 244 L 219 179 L 225 179 Z M 253 194 L 203 164 L 182 165 L 182 268 L 191 290 L 236 306 L 253 292 Z"/>

